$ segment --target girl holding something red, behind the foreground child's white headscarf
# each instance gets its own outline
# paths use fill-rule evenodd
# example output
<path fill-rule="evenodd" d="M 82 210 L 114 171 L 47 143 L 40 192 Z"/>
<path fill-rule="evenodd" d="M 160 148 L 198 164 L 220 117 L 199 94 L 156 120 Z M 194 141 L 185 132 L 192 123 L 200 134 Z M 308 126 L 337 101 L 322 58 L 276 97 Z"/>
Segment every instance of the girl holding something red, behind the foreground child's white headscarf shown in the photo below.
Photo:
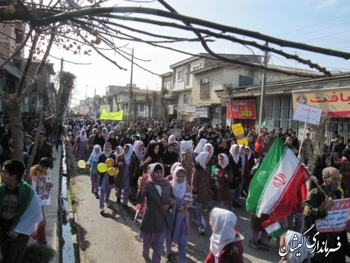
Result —
<path fill-rule="evenodd" d="M 225 203 L 230 204 L 230 189 L 228 185 L 233 180 L 232 168 L 226 154 L 218 155 L 218 163 L 216 163 L 216 170 L 213 175 L 215 180 L 214 194 L 216 194 L 216 206 L 218 208 L 224 208 Z"/>

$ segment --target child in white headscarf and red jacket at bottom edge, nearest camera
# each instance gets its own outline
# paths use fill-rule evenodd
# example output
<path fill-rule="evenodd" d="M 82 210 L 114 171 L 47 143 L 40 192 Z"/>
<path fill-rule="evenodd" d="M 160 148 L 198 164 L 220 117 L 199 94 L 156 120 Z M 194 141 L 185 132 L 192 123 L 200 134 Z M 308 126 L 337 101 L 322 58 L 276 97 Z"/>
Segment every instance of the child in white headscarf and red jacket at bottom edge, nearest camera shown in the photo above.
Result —
<path fill-rule="evenodd" d="M 210 252 L 205 263 L 237 262 L 243 263 L 244 237 L 235 230 L 237 217 L 234 213 L 214 208 L 209 216 L 213 229 L 210 238 Z"/>

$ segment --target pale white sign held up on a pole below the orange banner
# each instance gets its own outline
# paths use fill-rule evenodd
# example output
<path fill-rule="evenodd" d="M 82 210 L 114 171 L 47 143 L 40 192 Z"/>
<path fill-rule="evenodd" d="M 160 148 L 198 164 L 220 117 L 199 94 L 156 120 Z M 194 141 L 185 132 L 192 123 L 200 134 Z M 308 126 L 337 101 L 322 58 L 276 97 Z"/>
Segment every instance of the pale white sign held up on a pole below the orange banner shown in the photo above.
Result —
<path fill-rule="evenodd" d="M 297 102 L 297 107 L 295 107 L 293 114 L 293 120 L 318 125 L 320 123 L 321 114 L 321 108 Z"/>

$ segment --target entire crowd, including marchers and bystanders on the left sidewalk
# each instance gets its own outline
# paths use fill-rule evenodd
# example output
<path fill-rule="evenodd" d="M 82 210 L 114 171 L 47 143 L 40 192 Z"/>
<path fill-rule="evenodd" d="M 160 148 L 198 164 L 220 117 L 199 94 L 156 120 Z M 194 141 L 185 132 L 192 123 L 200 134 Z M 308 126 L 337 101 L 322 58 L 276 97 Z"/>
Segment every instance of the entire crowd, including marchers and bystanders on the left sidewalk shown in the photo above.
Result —
<path fill-rule="evenodd" d="M 28 231 L 16 231 L 13 227 L 18 224 L 18 218 L 23 213 L 23 210 L 16 208 L 22 202 L 21 192 L 30 193 L 33 190 L 32 196 L 39 200 L 38 196 L 45 199 L 46 194 L 41 193 L 41 182 L 45 182 L 43 185 L 48 189 L 52 187 L 49 180 L 52 146 L 49 142 L 53 143 L 57 138 L 52 137 L 49 123 L 46 123 L 43 130 L 36 130 L 31 124 L 35 120 L 31 116 L 23 120 L 27 123 L 25 127 L 29 129 L 25 130 L 23 138 L 24 154 L 23 160 L 20 160 L 23 169 L 27 166 L 29 156 L 33 154 L 34 136 L 36 133 L 40 134 L 27 184 L 22 180 L 22 170 L 12 168 L 11 140 L 0 119 L 3 150 L 0 160 L 3 166 L 3 184 L 0 186 L 1 241 L 16 241 L 13 242 L 14 248 L 22 241 L 23 236 L 25 239 L 29 238 Z M 311 163 L 311 136 L 307 134 L 300 142 L 292 129 L 283 132 L 283 128 L 280 128 L 276 132 L 267 128 L 255 130 L 254 127 L 247 126 L 244 135 L 248 143 L 244 145 L 237 143 L 230 126 L 221 124 L 212 126 L 210 123 L 181 120 L 164 123 L 147 119 L 116 122 L 79 118 L 67 121 L 66 127 L 76 161 L 86 161 L 86 168 L 90 171 L 91 192 L 98 199 L 99 213 L 104 215 L 105 205 L 111 206 L 110 196 L 113 189 L 117 203 L 123 204 L 125 210 L 130 210 L 130 203 L 136 205 L 135 218 L 139 217 L 141 220 L 141 255 L 146 262 L 160 262 L 163 251 L 167 260 L 174 262 L 172 243 L 176 243 L 179 248 L 179 262 L 186 262 L 190 225 L 196 226 L 199 235 L 208 231 L 209 226 L 212 229 L 211 252 L 206 262 L 243 262 L 243 236 L 235 229 L 235 210 L 244 209 L 241 200 L 248 195 L 256 165 L 267 155 L 274 140 L 281 139 L 295 156 L 309 166 L 311 175 L 321 185 L 320 187 L 310 180 L 309 186 L 305 185 L 297 192 L 300 203 L 281 222 L 283 228 L 288 230 L 287 235 L 281 238 L 281 244 L 290 235 L 293 236 L 293 233 L 300 234 L 316 220 L 325 217 L 335 199 L 349 197 L 350 147 L 344 144 L 344 137 L 336 132 L 330 144 L 325 145 L 324 152 L 318 153 L 316 161 Z M 101 172 L 99 164 L 111 160 L 114 172 Z M 39 177 L 45 178 L 39 180 Z M 31 185 L 31 191 L 28 190 L 28 185 Z M 10 200 L 8 198 L 14 198 L 15 205 L 6 201 Z M 33 220 L 32 225 L 38 224 L 38 220 L 42 222 L 38 224 L 43 229 L 41 235 L 37 235 L 37 232 L 36 235 L 41 243 L 45 243 L 45 206 L 48 203 L 42 200 L 38 203 L 39 206 L 37 203 L 36 206 L 41 207 L 41 210 L 36 211 L 38 217 Z M 11 205 L 17 213 L 5 212 Z M 192 218 L 189 210 L 193 210 Z M 268 218 L 266 216 L 251 217 L 248 245 L 255 250 L 269 250 L 270 237 L 261 225 Z M 209 222 L 206 222 L 208 217 Z M 314 234 L 314 231 L 309 231 L 309 235 Z M 350 252 L 346 231 L 319 236 L 322 240 L 328 238 L 328 244 L 335 245 L 339 241 L 342 246 L 330 255 L 313 254 L 311 261 L 345 262 L 345 257 L 349 257 Z M 22 247 L 26 245 L 25 240 Z M 8 250 L 8 247 L 1 244 L 1 251 L 5 257 L 9 257 L 6 251 L 13 250 Z M 21 256 L 20 253 L 16 254 L 16 257 Z M 283 258 L 290 262 L 302 262 L 299 260 L 301 257 L 297 256 L 297 250 Z M 298 260 L 293 261 L 294 259 Z"/>

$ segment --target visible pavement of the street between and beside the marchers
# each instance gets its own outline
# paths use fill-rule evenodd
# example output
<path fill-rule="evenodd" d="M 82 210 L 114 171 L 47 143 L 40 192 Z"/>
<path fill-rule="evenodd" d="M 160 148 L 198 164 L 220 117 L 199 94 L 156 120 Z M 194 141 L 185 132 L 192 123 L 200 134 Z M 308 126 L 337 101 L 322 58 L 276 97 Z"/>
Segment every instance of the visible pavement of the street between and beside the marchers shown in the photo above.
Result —
<path fill-rule="evenodd" d="M 87 170 L 84 170 L 86 172 Z M 90 177 L 80 173 L 71 179 L 78 206 L 75 220 L 78 227 L 81 262 L 144 262 L 139 241 L 139 221 L 134 221 L 135 208 L 130 204 L 130 212 L 116 203 L 114 190 L 111 193 L 111 208 L 105 207 L 105 215 L 99 214 L 98 200 L 91 194 Z M 243 201 L 243 199 L 242 199 Z M 190 209 L 191 215 L 194 208 Z M 237 208 L 237 230 L 244 236 L 244 262 L 278 262 L 276 242 L 269 242 L 269 251 L 253 250 L 248 247 L 250 234 L 250 214 L 244 208 Z M 190 217 L 192 218 L 192 217 Z M 208 222 L 208 221 L 207 221 Z M 197 232 L 190 223 L 188 242 L 188 262 L 204 262 L 209 252 L 211 231 L 207 227 L 204 235 Z M 175 247 L 172 248 L 177 252 Z M 165 262 L 165 258 L 162 259 Z"/>

